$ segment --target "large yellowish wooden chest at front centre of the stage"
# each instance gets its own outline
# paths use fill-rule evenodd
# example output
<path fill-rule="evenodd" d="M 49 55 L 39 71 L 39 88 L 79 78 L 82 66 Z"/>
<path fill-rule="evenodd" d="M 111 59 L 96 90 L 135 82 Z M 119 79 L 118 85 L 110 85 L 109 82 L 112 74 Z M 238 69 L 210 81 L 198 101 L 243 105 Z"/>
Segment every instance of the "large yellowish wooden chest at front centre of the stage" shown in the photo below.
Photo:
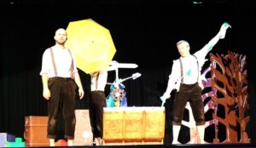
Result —
<path fill-rule="evenodd" d="M 165 118 L 164 107 L 104 108 L 104 145 L 163 144 Z"/>

